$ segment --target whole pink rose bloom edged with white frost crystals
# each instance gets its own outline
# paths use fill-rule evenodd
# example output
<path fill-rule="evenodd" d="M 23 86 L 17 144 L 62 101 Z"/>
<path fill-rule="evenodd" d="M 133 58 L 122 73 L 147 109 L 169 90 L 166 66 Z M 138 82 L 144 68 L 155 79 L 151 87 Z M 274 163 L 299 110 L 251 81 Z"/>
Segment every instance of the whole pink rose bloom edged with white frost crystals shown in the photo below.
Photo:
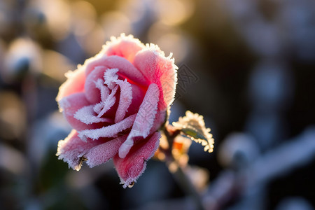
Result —
<path fill-rule="evenodd" d="M 111 38 L 59 88 L 60 111 L 73 130 L 57 155 L 79 170 L 113 158 L 123 187 L 132 185 L 158 149 L 159 128 L 174 100 L 177 66 L 158 45 Z"/>

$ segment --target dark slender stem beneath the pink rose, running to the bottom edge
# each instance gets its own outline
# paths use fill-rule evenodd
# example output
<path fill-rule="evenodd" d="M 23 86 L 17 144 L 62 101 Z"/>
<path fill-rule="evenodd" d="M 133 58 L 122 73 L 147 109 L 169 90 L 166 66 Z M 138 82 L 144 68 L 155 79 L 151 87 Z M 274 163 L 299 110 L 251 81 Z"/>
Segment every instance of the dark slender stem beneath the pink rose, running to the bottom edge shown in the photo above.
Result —
<path fill-rule="evenodd" d="M 199 193 L 197 193 L 195 186 L 193 186 L 193 183 L 190 181 L 187 174 L 183 171 L 183 169 L 181 168 L 179 163 L 174 159 L 174 157 L 172 155 L 172 145 L 173 145 L 175 137 L 180 134 L 180 131 L 179 130 L 167 130 L 167 126 L 165 126 L 163 128 L 163 132 L 164 132 L 165 136 L 167 137 L 167 141 L 169 143 L 169 149 L 167 151 L 165 151 L 165 155 L 167 157 L 166 158 L 167 167 L 169 167 L 169 165 L 171 165 L 171 164 L 173 164 L 173 165 L 176 164 L 176 171 L 173 172 L 173 174 L 174 174 L 174 177 L 175 177 L 177 183 L 179 184 L 179 186 L 181 186 L 181 188 L 183 188 L 184 191 L 186 191 L 186 193 L 188 193 L 188 195 L 193 197 L 193 200 L 195 201 L 197 209 L 204 210 L 204 206 L 202 204 L 201 197 L 200 197 Z"/>

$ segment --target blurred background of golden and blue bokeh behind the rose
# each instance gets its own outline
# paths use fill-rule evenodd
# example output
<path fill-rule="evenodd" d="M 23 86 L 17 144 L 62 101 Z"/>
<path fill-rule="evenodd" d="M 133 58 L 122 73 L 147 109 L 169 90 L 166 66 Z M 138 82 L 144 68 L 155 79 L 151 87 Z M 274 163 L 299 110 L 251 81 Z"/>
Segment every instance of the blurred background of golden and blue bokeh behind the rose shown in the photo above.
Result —
<path fill-rule="evenodd" d="M 170 120 L 211 127 L 188 153 L 206 209 L 314 209 L 314 0 L 0 0 L 0 209 L 195 209 L 163 162 L 123 189 L 55 156 L 64 73 L 121 33 L 173 52 Z"/>

